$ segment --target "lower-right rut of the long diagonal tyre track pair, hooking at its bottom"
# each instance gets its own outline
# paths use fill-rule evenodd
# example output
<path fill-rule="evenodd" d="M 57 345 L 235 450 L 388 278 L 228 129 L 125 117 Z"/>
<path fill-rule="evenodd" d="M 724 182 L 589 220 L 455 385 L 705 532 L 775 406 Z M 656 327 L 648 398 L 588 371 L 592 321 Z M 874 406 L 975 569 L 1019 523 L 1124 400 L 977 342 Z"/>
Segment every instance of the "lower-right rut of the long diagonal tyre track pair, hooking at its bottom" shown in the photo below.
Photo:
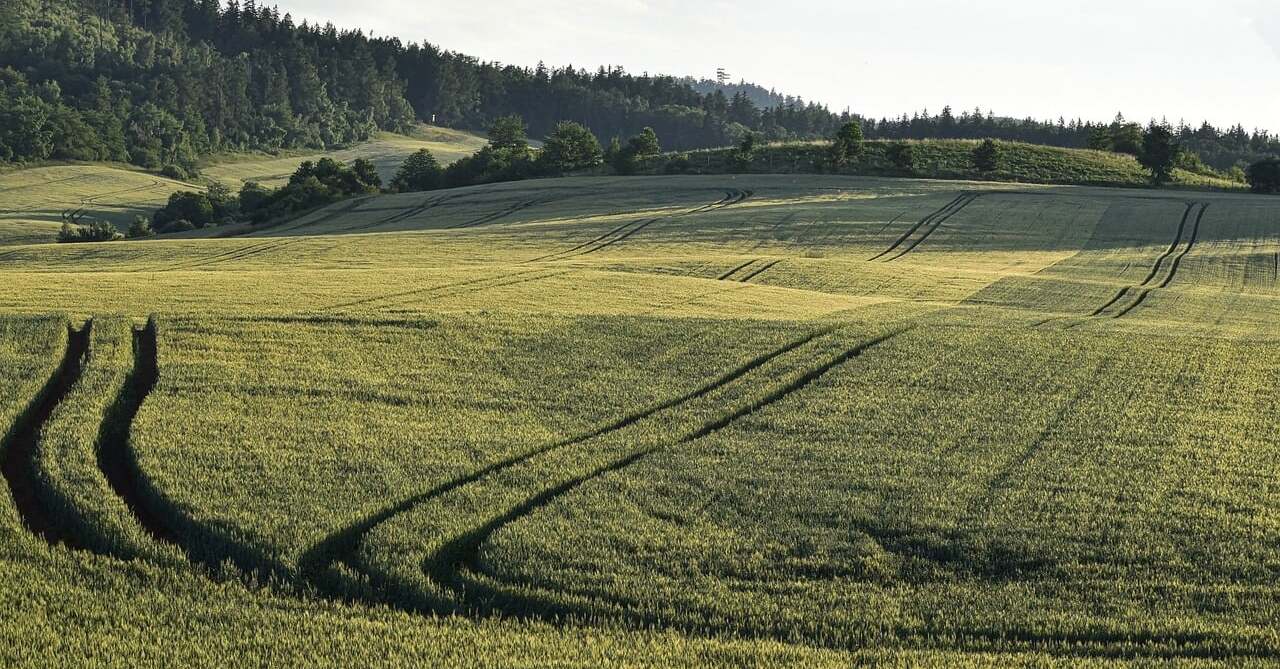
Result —
<path fill-rule="evenodd" d="M 566 608 L 563 605 L 556 604 L 554 601 L 545 600 L 543 597 L 527 596 L 527 595 L 511 595 L 499 594 L 492 588 L 488 588 L 481 583 L 476 576 L 485 574 L 483 567 L 479 564 L 480 547 L 493 537 L 499 530 L 512 523 L 521 521 L 529 516 L 532 516 L 538 510 L 550 505 L 559 498 L 572 492 L 573 490 L 581 487 L 582 485 L 599 480 L 611 473 L 622 471 L 645 458 L 649 458 L 657 453 L 668 450 L 673 446 L 690 444 L 710 436 L 721 430 L 724 430 L 733 425 L 735 422 L 751 416 L 759 411 L 768 408 L 772 404 L 782 402 L 800 390 L 804 390 L 812 385 L 818 379 L 823 377 L 832 370 L 847 363 L 849 361 L 863 356 L 865 352 L 888 342 L 905 330 L 891 331 L 882 334 L 873 339 L 861 342 L 849 349 L 845 349 L 838 356 L 828 359 L 827 362 L 810 368 L 808 372 L 800 375 L 799 377 L 783 384 L 780 388 L 773 389 L 771 393 L 754 402 L 748 403 L 739 409 L 730 412 L 719 418 L 703 425 L 694 432 L 677 439 L 667 445 L 658 445 L 653 448 L 646 448 L 644 450 L 625 455 L 609 464 L 599 467 L 584 476 L 572 478 L 561 485 L 553 486 L 544 490 L 531 498 L 529 498 L 522 504 L 512 508 L 507 513 L 493 518 L 481 527 L 472 530 L 471 532 L 463 535 L 462 537 L 447 544 L 434 555 L 429 556 L 422 564 L 424 573 L 435 583 L 444 587 L 454 590 L 454 592 L 462 599 L 465 606 L 474 608 L 474 613 L 488 615 L 488 614 L 503 614 L 503 615 L 520 615 L 522 611 L 534 613 L 541 615 L 572 615 L 572 608 Z M 489 574 L 485 574 L 489 576 Z M 490 576 L 492 578 L 492 576 Z M 518 586 L 518 585 L 517 585 Z M 476 596 L 476 592 L 481 592 L 481 596 Z M 488 592 L 486 592 L 488 591 Z"/>

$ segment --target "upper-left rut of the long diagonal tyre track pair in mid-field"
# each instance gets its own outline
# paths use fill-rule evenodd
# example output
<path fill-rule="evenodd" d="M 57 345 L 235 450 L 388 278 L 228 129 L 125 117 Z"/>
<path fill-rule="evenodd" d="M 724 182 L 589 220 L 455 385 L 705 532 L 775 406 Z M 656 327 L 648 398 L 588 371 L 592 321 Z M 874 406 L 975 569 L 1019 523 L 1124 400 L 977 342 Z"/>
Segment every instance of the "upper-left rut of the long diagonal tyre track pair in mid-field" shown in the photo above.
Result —
<path fill-rule="evenodd" d="M 547 444 L 536 449 L 502 459 L 499 462 L 476 469 L 466 476 L 454 478 L 449 482 L 433 487 L 431 490 L 407 498 L 394 505 L 387 507 L 361 521 L 357 521 L 339 530 L 338 532 L 330 535 L 329 537 L 326 537 L 325 540 L 320 541 L 310 550 L 307 550 L 303 554 L 302 559 L 300 560 L 300 564 L 303 565 L 302 572 L 303 574 L 307 574 L 308 581 L 312 585 L 316 585 L 317 587 L 329 591 L 330 594 L 346 594 L 347 596 L 349 596 L 352 592 L 351 585 L 337 583 L 334 579 L 338 578 L 338 576 L 332 572 L 332 568 L 339 563 L 349 568 L 356 568 L 357 567 L 356 550 L 358 550 L 365 537 L 369 536 L 380 524 L 390 521 L 392 518 L 401 516 L 403 513 L 408 513 L 421 504 L 444 496 L 466 485 L 475 484 L 489 476 L 499 473 L 504 469 L 518 467 L 524 463 L 532 460 L 534 458 L 538 458 L 539 455 L 544 455 L 556 450 L 584 444 L 593 439 L 599 439 L 611 435 L 613 432 L 618 432 L 657 413 L 676 409 L 698 398 L 709 395 L 710 393 L 721 388 L 724 388 L 732 384 L 733 381 L 737 381 L 742 376 L 746 376 L 748 374 L 763 367 L 764 365 L 768 365 L 771 361 L 786 353 L 796 350 L 800 347 L 804 347 L 805 344 L 813 342 L 814 339 L 829 334 L 831 331 L 832 331 L 831 327 L 814 331 L 804 338 L 790 342 L 782 345 L 781 348 L 763 353 L 748 361 L 745 365 L 712 380 L 710 382 L 690 393 L 667 399 L 664 402 L 644 408 L 641 411 L 628 413 L 622 418 L 618 418 L 617 421 L 591 429 L 571 439 Z M 362 576 L 367 576 L 371 579 L 376 579 L 376 574 L 362 574 Z M 366 592 L 366 595 L 370 594 Z M 390 595 L 387 592 L 380 592 L 375 594 L 374 596 L 388 597 Z M 420 609 L 421 610 L 419 613 L 436 613 L 431 606 L 421 606 Z"/>

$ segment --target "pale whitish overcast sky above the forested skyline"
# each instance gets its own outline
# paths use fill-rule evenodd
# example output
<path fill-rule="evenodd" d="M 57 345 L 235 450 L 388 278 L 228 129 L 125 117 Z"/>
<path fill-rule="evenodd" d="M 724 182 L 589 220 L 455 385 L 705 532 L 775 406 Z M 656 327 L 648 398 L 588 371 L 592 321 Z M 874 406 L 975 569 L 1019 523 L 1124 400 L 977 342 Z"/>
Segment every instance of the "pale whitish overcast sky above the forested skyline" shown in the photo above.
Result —
<path fill-rule="evenodd" d="M 1276 0 L 285 0 L 294 18 L 481 60 L 733 77 L 883 116 L 1010 116 L 1280 132 Z"/>

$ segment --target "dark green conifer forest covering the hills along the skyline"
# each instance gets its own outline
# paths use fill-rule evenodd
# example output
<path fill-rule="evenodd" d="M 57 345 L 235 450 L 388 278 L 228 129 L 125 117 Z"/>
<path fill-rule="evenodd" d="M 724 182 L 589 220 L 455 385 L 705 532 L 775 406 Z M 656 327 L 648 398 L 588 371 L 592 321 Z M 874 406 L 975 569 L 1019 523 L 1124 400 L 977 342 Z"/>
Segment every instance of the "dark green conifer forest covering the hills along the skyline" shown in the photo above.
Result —
<path fill-rule="evenodd" d="M 296 24 L 255 0 L 4 0 L 0 161 L 120 160 L 175 173 L 221 151 L 330 148 L 419 120 L 531 134 L 577 122 L 602 138 L 653 128 L 671 150 L 829 137 L 850 116 L 739 83 L 621 68 L 522 68 L 431 43 Z M 760 102 L 765 102 L 762 105 Z M 1124 151 L 1132 124 L 989 113 L 861 119 L 868 138 L 978 138 Z M 1280 153 L 1240 127 L 1179 129 L 1221 170 Z M 174 174 L 182 177 L 182 174 Z"/>

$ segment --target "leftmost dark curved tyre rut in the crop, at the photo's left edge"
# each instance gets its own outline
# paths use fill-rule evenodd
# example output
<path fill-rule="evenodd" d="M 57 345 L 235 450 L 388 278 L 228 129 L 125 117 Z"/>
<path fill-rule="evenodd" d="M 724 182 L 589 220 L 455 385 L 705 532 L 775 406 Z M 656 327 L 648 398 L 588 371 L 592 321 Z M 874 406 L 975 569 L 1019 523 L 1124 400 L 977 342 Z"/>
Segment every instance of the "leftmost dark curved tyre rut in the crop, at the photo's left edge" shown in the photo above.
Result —
<path fill-rule="evenodd" d="M 36 480 L 36 449 L 45 423 L 81 377 L 92 327 L 92 321 L 79 330 L 68 326 L 63 361 L 27 411 L 18 417 L 5 439 L 4 459 L 0 462 L 22 524 L 49 545 L 79 546 L 73 536 L 54 523 L 52 514 L 41 501 L 40 482 Z"/>

